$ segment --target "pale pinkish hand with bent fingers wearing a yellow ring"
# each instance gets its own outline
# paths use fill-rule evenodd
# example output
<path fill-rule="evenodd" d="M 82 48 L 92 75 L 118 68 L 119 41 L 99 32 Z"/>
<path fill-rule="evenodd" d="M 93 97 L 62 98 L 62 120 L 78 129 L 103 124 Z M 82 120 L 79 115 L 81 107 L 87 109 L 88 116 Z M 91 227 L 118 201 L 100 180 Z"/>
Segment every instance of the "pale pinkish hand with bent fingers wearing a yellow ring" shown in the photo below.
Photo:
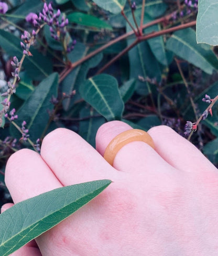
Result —
<path fill-rule="evenodd" d="M 103 155 L 131 127 L 100 127 Z M 148 131 L 156 151 L 132 142 L 114 168 L 79 135 L 57 129 L 43 140 L 41 156 L 21 150 L 7 163 L 5 182 L 14 202 L 61 186 L 97 179 L 113 183 L 88 205 L 13 253 L 14 256 L 217 255 L 218 172 L 191 143 L 166 126 Z M 3 210 L 11 205 L 3 206 Z"/>

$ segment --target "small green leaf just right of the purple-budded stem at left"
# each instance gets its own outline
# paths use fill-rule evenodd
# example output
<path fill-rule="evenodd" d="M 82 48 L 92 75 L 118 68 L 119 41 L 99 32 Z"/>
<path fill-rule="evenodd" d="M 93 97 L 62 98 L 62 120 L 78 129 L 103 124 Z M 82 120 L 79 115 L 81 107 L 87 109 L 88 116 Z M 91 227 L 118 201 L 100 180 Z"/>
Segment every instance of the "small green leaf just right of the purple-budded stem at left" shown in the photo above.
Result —
<path fill-rule="evenodd" d="M 32 80 L 29 78 L 28 74 L 26 72 L 20 72 L 20 80 L 18 87 L 16 88 L 17 97 L 26 100 L 34 89 Z"/>

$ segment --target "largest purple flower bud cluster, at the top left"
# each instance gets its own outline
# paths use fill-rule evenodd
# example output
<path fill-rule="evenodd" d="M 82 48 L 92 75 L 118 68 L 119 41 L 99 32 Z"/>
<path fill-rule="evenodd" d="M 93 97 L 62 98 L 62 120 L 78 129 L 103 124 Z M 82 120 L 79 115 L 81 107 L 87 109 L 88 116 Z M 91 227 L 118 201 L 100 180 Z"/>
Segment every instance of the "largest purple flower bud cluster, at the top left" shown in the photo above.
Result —
<path fill-rule="evenodd" d="M 67 25 L 69 24 L 69 20 L 61 14 L 60 9 L 55 13 L 53 7 L 47 3 L 44 4 L 42 12 L 39 13 L 39 16 L 35 13 L 29 13 L 26 16 L 27 22 L 32 23 L 35 27 L 39 28 L 41 24 L 46 23 L 49 26 L 51 37 L 57 41 L 62 40 L 67 33 Z M 67 52 L 70 52 L 74 49 L 76 40 L 73 40 L 67 46 Z"/>

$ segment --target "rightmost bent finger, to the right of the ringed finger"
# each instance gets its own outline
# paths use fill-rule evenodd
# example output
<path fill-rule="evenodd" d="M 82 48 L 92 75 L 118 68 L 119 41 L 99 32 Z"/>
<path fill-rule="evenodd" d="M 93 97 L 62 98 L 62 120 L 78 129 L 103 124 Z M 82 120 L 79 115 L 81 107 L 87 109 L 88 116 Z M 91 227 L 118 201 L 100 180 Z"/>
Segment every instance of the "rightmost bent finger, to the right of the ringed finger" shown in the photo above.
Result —
<path fill-rule="evenodd" d="M 215 166 L 195 147 L 170 127 L 152 127 L 148 133 L 155 142 L 157 153 L 171 166 L 184 172 L 211 172 Z"/>

